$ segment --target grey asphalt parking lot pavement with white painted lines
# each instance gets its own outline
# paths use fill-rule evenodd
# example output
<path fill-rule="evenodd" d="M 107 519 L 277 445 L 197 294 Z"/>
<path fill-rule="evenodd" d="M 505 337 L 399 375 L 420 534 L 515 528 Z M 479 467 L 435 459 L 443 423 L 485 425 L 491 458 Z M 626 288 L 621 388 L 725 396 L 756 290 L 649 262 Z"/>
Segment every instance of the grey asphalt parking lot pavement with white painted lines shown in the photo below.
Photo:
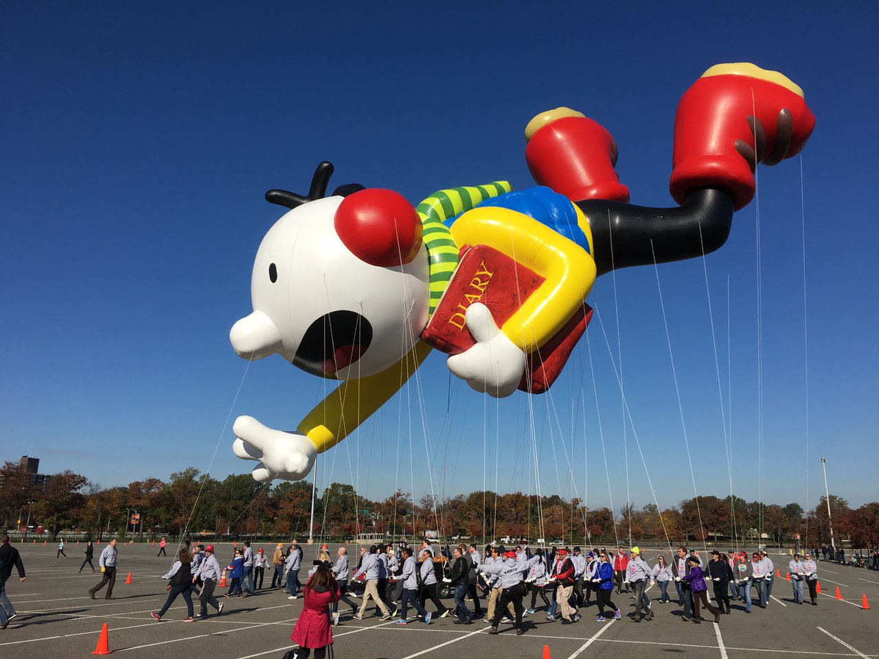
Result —
<path fill-rule="evenodd" d="M 27 580 L 19 583 L 13 573 L 7 582 L 7 594 L 18 610 L 18 618 L 0 632 L 0 655 L 91 656 L 104 623 L 109 626 L 109 646 L 114 654 L 125 653 L 133 659 L 165 655 L 280 659 L 293 647 L 290 634 L 302 599 L 289 600 L 280 590 L 263 590 L 243 599 L 221 597 L 225 604 L 222 615 L 215 616 L 210 610 L 207 619 L 193 624 L 183 622 L 185 603 L 178 597 L 163 621 L 156 622 L 149 612 L 157 611 L 164 603 L 161 576 L 172 562 L 170 556 L 156 557 L 158 547 L 120 546 L 113 590 L 116 599 L 103 599 L 101 591 L 98 599 L 92 600 L 88 590 L 100 581 L 100 574 L 91 573 L 88 567 L 82 574 L 77 573 L 82 546 L 69 544 L 68 560 L 55 559 L 54 547 L 16 546 L 25 562 Z M 96 547 L 96 556 L 102 547 Z M 221 563 L 228 564 L 231 545 L 216 547 Z M 267 554 L 273 550 L 271 543 L 254 545 L 258 547 L 264 547 Z M 168 554 L 173 554 L 172 548 L 169 545 Z M 306 547 L 303 568 L 307 569 L 312 554 L 314 547 Z M 352 558 L 357 554 L 354 548 L 351 554 Z M 781 568 L 787 560 L 779 556 L 775 562 Z M 124 583 L 128 572 L 132 576 L 130 584 Z M 402 626 L 382 622 L 368 613 L 364 620 L 351 619 L 343 605 L 342 624 L 333 628 L 334 649 L 337 657 L 352 659 L 461 659 L 482 655 L 536 658 L 542 655 L 544 646 L 549 647 L 553 659 L 599 655 L 603 659 L 643 659 L 665 653 L 698 659 L 879 656 L 875 608 L 861 609 L 862 595 L 868 597 L 871 606 L 879 606 L 879 573 L 822 562 L 818 574 L 824 590 L 818 606 L 795 605 L 790 584 L 782 576 L 775 580 L 774 600 L 766 610 L 755 606 L 751 615 L 745 615 L 744 607 L 733 603 L 732 614 L 722 616 L 719 626 L 682 622 L 677 605 L 654 603 L 656 617 L 650 622 L 636 624 L 624 615 L 620 621 L 597 623 L 596 607 L 592 606 L 581 609 L 583 619 L 577 624 L 562 625 L 547 622 L 539 609 L 527 616 L 523 636 L 516 636 L 508 622 L 501 624 L 501 634 L 493 636 L 482 620 L 459 626 L 449 617 L 437 619 L 430 626 L 420 622 Z M 268 585 L 272 575 L 266 576 Z M 837 585 L 843 600 L 834 597 Z M 648 591 L 649 596 L 656 594 L 656 588 Z M 613 599 L 624 614 L 632 611 L 634 603 L 628 595 L 614 592 Z"/>

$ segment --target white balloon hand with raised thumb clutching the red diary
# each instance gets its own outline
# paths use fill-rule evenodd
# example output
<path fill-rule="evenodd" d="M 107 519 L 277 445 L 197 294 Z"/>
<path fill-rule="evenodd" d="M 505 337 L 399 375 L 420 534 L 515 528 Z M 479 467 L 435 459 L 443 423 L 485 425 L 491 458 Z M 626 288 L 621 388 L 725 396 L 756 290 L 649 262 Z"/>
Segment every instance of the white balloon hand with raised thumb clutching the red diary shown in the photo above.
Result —
<path fill-rule="evenodd" d="M 448 370 L 480 393 L 495 398 L 512 395 L 525 373 L 525 352 L 498 328 L 482 302 L 471 304 L 465 318 L 476 344 L 448 358 Z"/>

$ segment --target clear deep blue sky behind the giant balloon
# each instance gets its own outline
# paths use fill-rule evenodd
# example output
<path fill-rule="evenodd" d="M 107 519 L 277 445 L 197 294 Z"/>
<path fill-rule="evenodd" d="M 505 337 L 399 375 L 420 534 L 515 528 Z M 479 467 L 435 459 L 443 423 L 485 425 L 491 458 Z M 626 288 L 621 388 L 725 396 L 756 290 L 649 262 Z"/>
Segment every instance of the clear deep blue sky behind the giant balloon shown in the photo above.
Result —
<path fill-rule="evenodd" d="M 541 493 L 573 494 L 572 453 L 590 505 L 650 503 L 649 473 L 665 506 L 692 496 L 693 480 L 700 494 L 729 493 L 725 419 L 738 495 L 814 505 L 825 454 L 832 492 L 874 500 L 875 460 L 861 456 L 879 422 L 876 5 L 590 5 L 5 3 L 3 459 L 39 456 L 43 471 L 109 486 L 204 470 L 219 440 L 212 473 L 249 471 L 231 453 L 227 417 L 294 428 L 330 384 L 277 357 L 248 368 L 229 345 L 251 311 L 252 259 L 282 211 L 265 190 L 305 192 L 324 159 L 332 185 L 389 187 L 416 203 L 452 185 L 525 187 L 525 124 L 569 105 L 614 134 L 634 203 L 671 205 L 680 95 L 712 64 L 750 61 L 800 84 L 817 127 L 802 159 L 759 170 L 757 199 L 723 250 L 704 266 L 659 268 L 694 479 L 657 273 L 640 268 L 617 272 L 615 291 L 599 279 L 590 302 L 602 322 L 533 409 L 520 393 L 477 395 L 434 354 L 418 383 L 319 461 L 318 483 L 373 497 L 396 485 L 416 497 L 496 483 L 534 492 L 533 425 Z M 618 327 L 646 473 L 631 426 L 623 438 Z"/>

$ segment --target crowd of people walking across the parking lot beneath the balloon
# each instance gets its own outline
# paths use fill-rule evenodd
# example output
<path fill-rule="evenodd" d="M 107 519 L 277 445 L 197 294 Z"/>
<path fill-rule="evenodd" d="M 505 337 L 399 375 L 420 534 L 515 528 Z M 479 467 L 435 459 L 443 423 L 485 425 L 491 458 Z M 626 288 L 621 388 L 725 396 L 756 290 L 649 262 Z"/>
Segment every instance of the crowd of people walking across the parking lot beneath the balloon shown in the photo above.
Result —
<path fill-rule="evenodd" d="M 95 571 L 91 542 L 83 551 L 85 560 L 79 571 L 86 564 Z M 828 560 L 835 558 L 828 555 Z M 106 588 L 104 597 L 113 599 L 117 561 L 117 543 L 110 540 L 99 555 L 101 581 L 89 590 L 90 597 L 96 598 Z M 526 544 L 490 545 L 480 553 L 476 544 L 438 551 L 429 540 L 410 547 L 405 539 L 396 546 L 360 547 L 353 565 L 347 547 L 338 547 L 336 555 L 331 556 L 329 547 L 323 545 L 304 577 L 300 576 L 306 562 L 304 551 L 296 540 L 288 547 L 278 543 L 271 559 L 262 548 L 254 552 L 251 543 L 245 541 L 242 547 L 234 547 L 229 564 L 224 565 L 225 562 L 218 559 L 213 545 L 191 548 L 186 543 L 163 576 L 167 581 L 167 600 L 151 616 L 161 620 L 174 601 L 183 597 L 187 609 L 184 621 L 193 622 L 207 617 L 208 608 L 221 614 L 221 597 L 248 597 L 258 590 L 280 589 L 290 599 L 305 597 L 293 635 L 299 645 L 299 654 L 295 656 L 307 657 L 314 649 L 317 659 L 331 643 L 330 627 L 339 624 L 340 603 L 350 607 L 353 619 L 364 619 L 372 606 L 381 620 L 395 619 L 397 625 L 430 625 L 437 617 L 451 616 L 458 625 L 472 625 L 474 620 L 484 619 L 490 625 L 489 634 L 498 634 L 501 623 L 507 620 L 516 634 L 523 634 L 524 617 L 539 610 L 548 622 L 559 621 L 563 625 L 583 619 L 585 610 L 592 605 L 596 606 L 597 622 L 619 620 L 623 616 L 621 605 L 628 610 L 628 600 L 620 600 L 625 594 L 635 600 L 634 611 L 628 613 L 628 618 L 636 623 L 654 619 L 657 603 L 665 605 L 672 601 L 680 607 L 682 621 L 700 623 L 705 610 L 719 623 L 723 615 L 732 613 L 731 603 L 735 601 L 744 604 L 740 609 L 745 613 L 752 612 L 752 605 L 766 608 L 778 574 L 766 551 L 749 555 L 732 549 L 726 554 L 714 550 L 703 558 L 693 547 L 678 547 L 671 559 L 659 553 L 651 565 L 639 547 L 631 547 L 628 552 L 622 547 L 616 551 L 603 547 L 532 551 Z M 18 569 L 20 580 L 25 580 L 18 550 L 11 546 L 8 536 L 2 538 L 0 565 L 0 628 L 5 628 L 17 614 L 5 595 L 4 584 L 13 567 Z M 270 565 L 272 581 L 264 588 L 265 569 Z M 217 589 L 227 571 L 228 590 L 218 597 Z M 794 554 L 785 571 L 795 604 L 805 603 L 808 589 L 810 604 L 817 605 L 817 562 L 812 553 Z M 648 593 L 654 586 L 657 594 L 651 599 Z M 713 596 L 710 598 L 709 586 Z M 454 595 L 454 605 L 443 603 L 440 594 L 446 590 Z M 618 596 L 616 603 L 612 599 L 614 594 Z M 200 605 L 197 613 L 193 595 Z"/>

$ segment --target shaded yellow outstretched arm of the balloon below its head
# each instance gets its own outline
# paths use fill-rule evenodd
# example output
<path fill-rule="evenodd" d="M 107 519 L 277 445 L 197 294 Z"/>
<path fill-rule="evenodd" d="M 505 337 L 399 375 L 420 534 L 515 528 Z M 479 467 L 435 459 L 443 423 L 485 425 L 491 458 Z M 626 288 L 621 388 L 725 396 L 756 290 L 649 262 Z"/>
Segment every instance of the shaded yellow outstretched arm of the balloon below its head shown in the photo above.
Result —
<path fill-rule="evenodd" d="M 360 380 L 345 380 L 302 419 L 296 432 L 308 437 L 317 453 L 337 445 L 403 387 L 427 358 L 431 347 L 418 341 L 394 366 Z"/>

